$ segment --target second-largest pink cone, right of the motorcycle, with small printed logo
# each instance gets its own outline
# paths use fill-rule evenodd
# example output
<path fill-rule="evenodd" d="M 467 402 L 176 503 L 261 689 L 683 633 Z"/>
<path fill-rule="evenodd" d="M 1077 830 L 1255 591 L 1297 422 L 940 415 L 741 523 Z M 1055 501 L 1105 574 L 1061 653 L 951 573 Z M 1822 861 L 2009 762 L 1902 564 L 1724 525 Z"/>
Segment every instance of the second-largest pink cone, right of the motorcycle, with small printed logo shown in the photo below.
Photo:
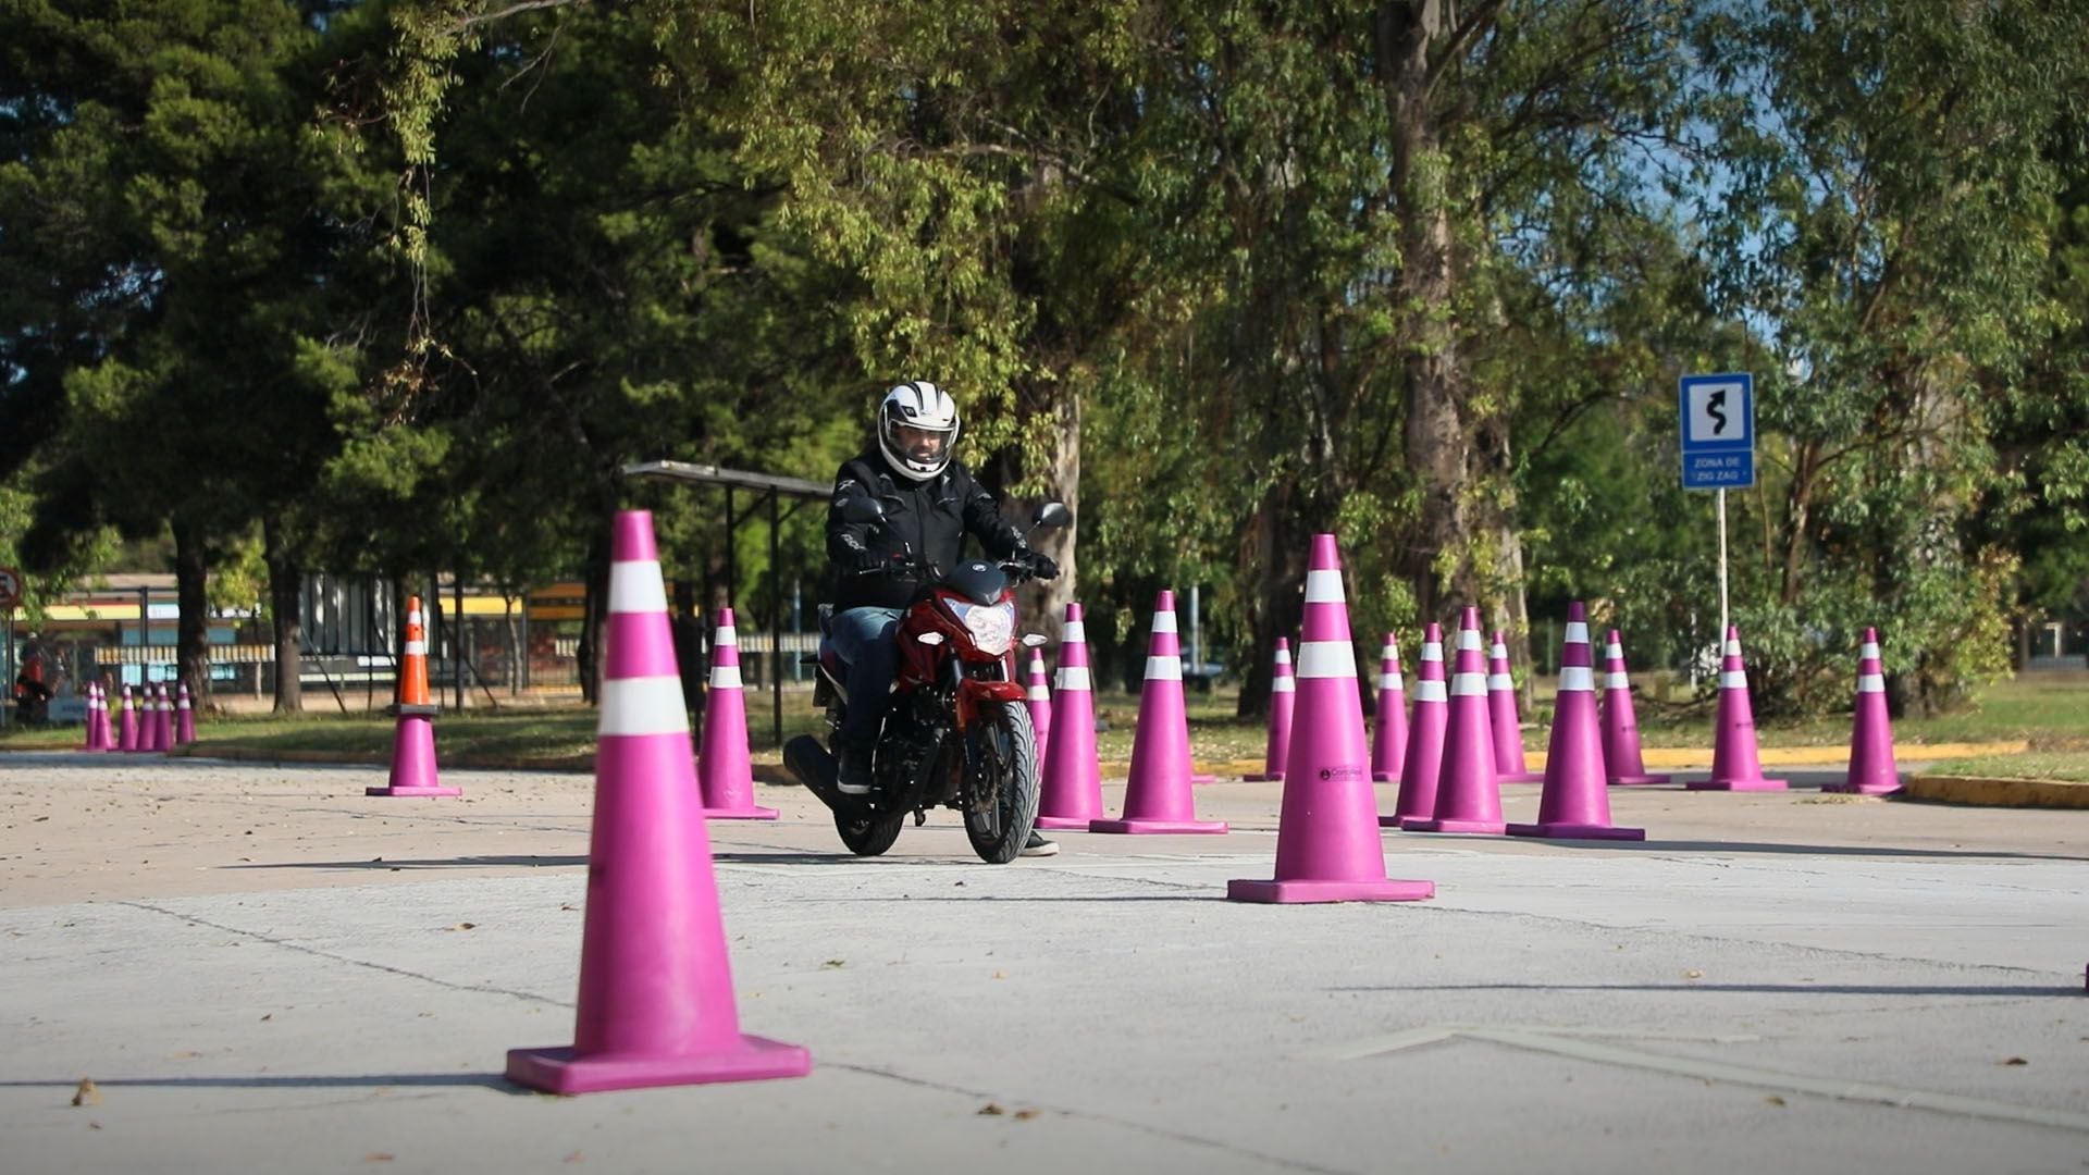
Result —
<path fill-rule="evenodd" d="M 1276 824 L 1276 878 L 1230 880 L 1226 897 L 1276 903 L 1435 897 L 1435 882 L 1385 876 L 1379 797 L 1364 751 L 1364 702 L 1335 535 L 1312 537 L 1306 567 L 1299 698 Z"/>

